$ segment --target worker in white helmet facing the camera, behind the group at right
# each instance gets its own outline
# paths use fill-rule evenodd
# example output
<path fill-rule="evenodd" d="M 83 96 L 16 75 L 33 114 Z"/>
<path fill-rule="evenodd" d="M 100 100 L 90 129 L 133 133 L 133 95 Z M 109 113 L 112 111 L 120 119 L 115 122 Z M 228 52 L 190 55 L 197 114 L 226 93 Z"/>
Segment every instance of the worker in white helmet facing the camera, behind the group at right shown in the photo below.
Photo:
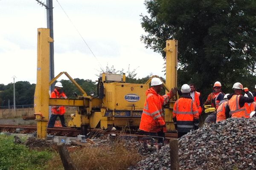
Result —
<path fill-rule="evenodd" d="M 213 85 L 213 92 L 208 95 L 204 105 L 212 105 L 216 110 L 218 109 L 219 103 L 223 100 L 224 94 L 221 92 L 221 83 L 215 82 Z"/>

